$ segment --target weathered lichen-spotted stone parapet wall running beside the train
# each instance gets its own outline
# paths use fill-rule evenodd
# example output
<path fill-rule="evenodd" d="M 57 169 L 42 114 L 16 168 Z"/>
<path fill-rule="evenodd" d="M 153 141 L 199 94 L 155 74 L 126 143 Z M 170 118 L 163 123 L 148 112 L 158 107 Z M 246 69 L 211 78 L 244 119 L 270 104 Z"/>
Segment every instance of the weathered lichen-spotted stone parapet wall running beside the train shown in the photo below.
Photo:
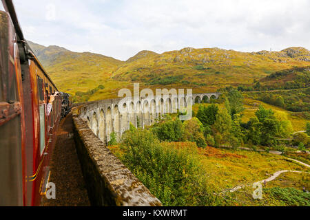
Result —
<path fill-rule="evenodd" d="M 92 104 L 90 104 L 92 105 Z M 162 206 L 73 110 L 74 140 L 92 206 Z"/>

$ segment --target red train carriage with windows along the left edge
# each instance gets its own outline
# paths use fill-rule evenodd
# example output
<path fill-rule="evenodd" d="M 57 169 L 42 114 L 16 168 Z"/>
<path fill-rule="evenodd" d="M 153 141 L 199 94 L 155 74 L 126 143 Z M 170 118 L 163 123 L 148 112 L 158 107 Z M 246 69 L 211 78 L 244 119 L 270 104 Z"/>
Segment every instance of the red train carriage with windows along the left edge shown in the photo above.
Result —
<path fill-rule="evenodd" d="M 46 193 L 61 96 L 19 26 L 11 0 L 0 1 L 0 206 L 39 206 Z"/>

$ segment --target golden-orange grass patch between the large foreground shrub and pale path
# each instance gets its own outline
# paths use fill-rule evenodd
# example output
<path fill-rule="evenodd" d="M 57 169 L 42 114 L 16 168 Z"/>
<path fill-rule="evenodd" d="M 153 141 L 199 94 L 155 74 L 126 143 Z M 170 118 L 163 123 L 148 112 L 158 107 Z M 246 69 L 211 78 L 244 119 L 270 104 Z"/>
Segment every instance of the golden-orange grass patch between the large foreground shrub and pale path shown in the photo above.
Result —
<path fill-rule="evenodd" d="M 284 156 L 208 147 L 200 154 L 208 183 L 223 190 L 242 184 L 252 184 L 267 179 L 278 170 L 309 170 L 298 164 L 287 162 Z"/>

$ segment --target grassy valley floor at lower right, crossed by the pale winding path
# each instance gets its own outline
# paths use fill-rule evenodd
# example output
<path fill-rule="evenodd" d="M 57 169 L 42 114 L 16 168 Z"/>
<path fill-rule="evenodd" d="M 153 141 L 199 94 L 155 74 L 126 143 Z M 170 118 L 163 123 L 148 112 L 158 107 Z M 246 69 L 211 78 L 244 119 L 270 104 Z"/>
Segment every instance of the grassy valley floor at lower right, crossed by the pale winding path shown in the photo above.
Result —
<path fill-rule="evenodd" d="M 172 142 L 169 146 L 180 144 Z M 121 156 L 118 146 L 110 150 Z M 266 152 L 207 147 L 198 148 L 198 153 L 204 168 L 202 175 L 207 175 L 205 184 L 225 198 L 225 203 L 218 204 L 220 206 L 310 206 L 309 193 L 302 192 L 310 190 L 310 168 L 307 166 Z M 280 172 L 282 170 L 294 172 Z M 270 181 L 263 186 L 262 199 L 254 199 L 252 186 L 264 179 Z M 238 190 L 230 192 L 233 188 Z M 292 201 L 287 201 L 288 197 Z"/>

